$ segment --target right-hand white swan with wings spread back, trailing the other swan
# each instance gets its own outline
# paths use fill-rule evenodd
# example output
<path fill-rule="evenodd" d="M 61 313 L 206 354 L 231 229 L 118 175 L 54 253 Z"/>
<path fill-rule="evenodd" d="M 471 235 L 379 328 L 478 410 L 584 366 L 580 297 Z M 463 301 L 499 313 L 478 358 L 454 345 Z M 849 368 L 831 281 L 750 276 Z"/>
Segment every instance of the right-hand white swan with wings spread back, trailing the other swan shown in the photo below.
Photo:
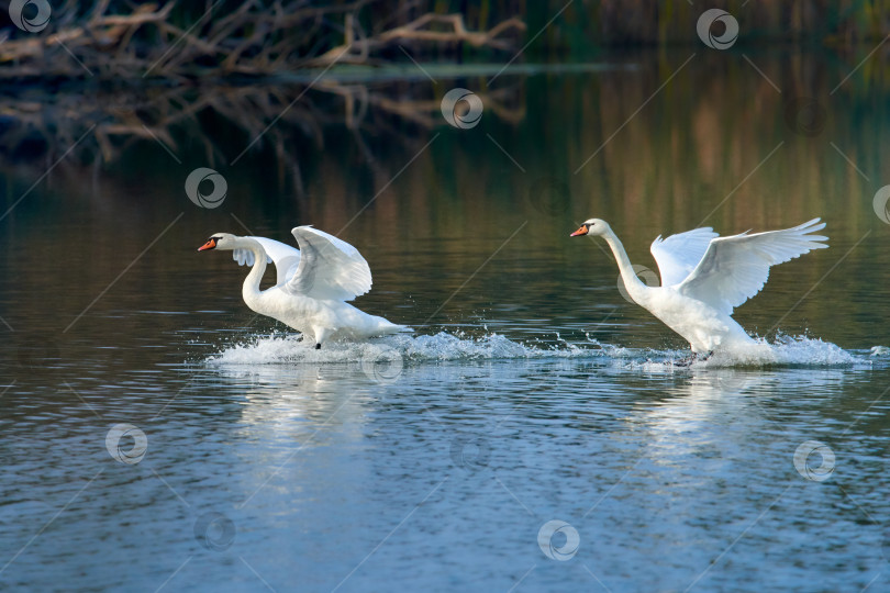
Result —
<path fill-rule="evenodd" d="M 741 350 L 755 344 L 732 318 L 733 309 L 764 288 L 769 268 L 827 240 L 810 235 L 825 227 L 813 219 L 793 228 L 721 237 L 712 228 L 696 228 L 652 244 L 661 272 L 661 286 L 648 287 L 636 277 L 624 246 L 605 221 L 590 219 L 570 236 L 602 236 L 615 255 L 621 278 L 631 298 L 668 327 L 689 340 L 698 354 Z M 693 355 L 694 356 L 694 355 Z"/>

